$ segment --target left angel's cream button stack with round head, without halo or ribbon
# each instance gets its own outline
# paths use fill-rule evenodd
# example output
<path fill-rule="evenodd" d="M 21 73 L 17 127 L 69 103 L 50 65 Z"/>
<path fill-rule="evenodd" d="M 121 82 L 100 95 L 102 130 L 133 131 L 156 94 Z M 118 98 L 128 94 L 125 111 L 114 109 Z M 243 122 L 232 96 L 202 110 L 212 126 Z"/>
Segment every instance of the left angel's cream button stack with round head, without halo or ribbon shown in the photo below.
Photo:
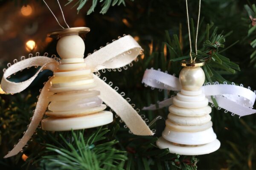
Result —
<path fill-rule="evenodd" d="M 78 130 L 106 125 L 113 121 L 113 113 L 104 111 L 106 105 L 99 98 L 93 68 L 84 63 L 84 41 L 78 34 L 65 35 L 58 40 L 61 57 L 58 70 L 51 80 L 48 111 L 41 121 L 43 130 Z"/>

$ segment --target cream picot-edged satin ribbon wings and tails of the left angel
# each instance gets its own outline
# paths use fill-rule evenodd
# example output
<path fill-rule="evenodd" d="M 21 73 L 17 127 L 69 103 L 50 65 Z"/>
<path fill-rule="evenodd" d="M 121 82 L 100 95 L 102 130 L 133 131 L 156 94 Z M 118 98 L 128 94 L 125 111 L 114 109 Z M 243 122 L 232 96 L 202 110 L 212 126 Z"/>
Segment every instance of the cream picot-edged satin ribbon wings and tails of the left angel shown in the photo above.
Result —
<path fill-rule="evenodd" d="M 134 59 L 136 59 L 136 57 L 140 54 L 141 49 L 142 48 L 133 39 L 133 37 L 127 35 L 87 56 L 84 59 L 84 62 L 86 63 L 87 68 L 91 68 L 93 72 L 102 69 L 120 68 L 128 65 Z M 40 71 L 48 69 L 54 72 L 58 69 L 58 65 L 59 62 L 55 59 L 44 56 L 24 59 L 6 69 L 1 81 L 1 88 L 6 93 L 19 93 L 25 90 L 33 82 Z M 10 82 L 7 80 L 7 77 L 11 76 L 12 74 L 32 66 L 41 66 L 41 68 L 30 79 L 24 82 Z M 95 74 L 93 74 L 93 77 L 97 84 L 97 86 L 93 89 L 100 91 L 99 97 L 103 100 L 103 102 L 105 102 L 106 105 L 116 112 L 116 114 L 125 122 L 132 133 L 141 136 L 154 135 L 137 111 L 135 111 L 134 108 L 119 93 L 116 92 L 116 90 L 111 88 L 110 85 Z M 4 156 L 4 158 L 8 158 L 19 153 L 29 141 L 41 122 L 41 119 L 44 116 L 49 104 L 48 96 L 53 94 L 52 92 L 48 91 L 51 79 L 52 78 L 50 78 L 44 85 L 44 88 L 42 88 L 28 129 L 20 141 L 6 156 Z"/>

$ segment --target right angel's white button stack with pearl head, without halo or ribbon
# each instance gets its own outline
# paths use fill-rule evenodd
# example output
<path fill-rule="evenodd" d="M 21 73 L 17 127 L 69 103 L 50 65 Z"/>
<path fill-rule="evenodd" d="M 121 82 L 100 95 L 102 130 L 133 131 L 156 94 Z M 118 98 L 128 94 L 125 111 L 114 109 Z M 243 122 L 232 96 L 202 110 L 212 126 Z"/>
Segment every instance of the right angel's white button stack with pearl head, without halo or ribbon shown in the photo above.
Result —
<path fill-rule="evenodd" d="M 179 79 L 182 90 L 169 106 L 166 127 L 157 146 L 180 155 L 212 153 L 218 150 L 220 142 L 212 129 L 212 108 L 201 90 L 204 71 L 200 67 L 184 67 Z"/>

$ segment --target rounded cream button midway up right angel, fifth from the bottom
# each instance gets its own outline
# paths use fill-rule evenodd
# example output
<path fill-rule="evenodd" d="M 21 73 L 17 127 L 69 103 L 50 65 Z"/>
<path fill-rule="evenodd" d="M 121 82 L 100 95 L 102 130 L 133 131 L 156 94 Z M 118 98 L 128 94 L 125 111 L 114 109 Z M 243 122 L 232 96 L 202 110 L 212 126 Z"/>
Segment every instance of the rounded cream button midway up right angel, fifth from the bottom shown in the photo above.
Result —
<path fill-rule="evenodd" d="M 204 116 L 212 112 L 210 106 L 204 108 L 180 108 L 175 105 L 169 106 L 169 112 L 179 116 Z"/>

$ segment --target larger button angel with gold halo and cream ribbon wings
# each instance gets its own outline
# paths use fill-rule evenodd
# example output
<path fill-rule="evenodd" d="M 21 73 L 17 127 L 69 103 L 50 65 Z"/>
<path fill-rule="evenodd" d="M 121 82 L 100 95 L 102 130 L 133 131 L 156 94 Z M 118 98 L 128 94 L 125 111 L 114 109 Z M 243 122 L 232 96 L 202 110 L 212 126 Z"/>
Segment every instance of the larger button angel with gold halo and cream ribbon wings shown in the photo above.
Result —
<path fill-rule="evenodd" d="M 23 58 L 20 62 L 16 59 L 15 64 L 9 65 L 4 71 L 1 87 L 6 93 L 12 94 L 25 90 L 40 71 L 48 69 L 53 72 L 53 77 L 41 90 L 28 129 L 5 158 L 22 150 L 40 122 L 42 129 L 48 131 L 86 129 L 111 123 L 113 113 L 105 111 L 106 105 L 116 112 L 135 135 L 153 135 L 137 111 L 116 92 L 116 88 L 111 88 L 113 83 L 107 84 L 105 78 L 100 79 L 95 74 L 105 69 L 126 69 L 126 65 L 136 59 L 142 48 L 130 35 L 125 35 L 84 59 L 85 45 L 79 35 L 89 31 L 90 28 L 78 27 L 52 32 L 48 36 L 59 39 L 57 52 L 61 59 L 37 54 L 35 57 Z M 33 66 L 41 68 L 30 79 L 24 82 L 10 82 L 7 79 Z M 44 114 L 48 117 L 42 119 Z"/>

